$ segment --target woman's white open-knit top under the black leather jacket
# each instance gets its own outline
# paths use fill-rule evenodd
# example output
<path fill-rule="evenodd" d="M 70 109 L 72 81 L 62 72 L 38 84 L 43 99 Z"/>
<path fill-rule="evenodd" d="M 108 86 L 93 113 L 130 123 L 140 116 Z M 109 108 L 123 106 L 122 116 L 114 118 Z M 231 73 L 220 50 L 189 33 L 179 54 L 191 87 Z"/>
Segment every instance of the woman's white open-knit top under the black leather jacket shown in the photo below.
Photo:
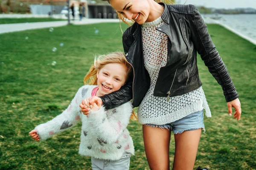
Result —
<path fill-rule="evenodd" d="M 170 97 L 169 102 L 167 97 L 153 95 L 160 68 L 167 63 L 168 37 L 156 30 L 163 23 L 164 21 L 159 17 L 153 22 L 142 25 L 144 64 L 151 82 L 150 88 L 138 108 L 139 122 L 141 124 L 164 125 L 201 111 L 203 108 L 206 110 L 206 116 L 211 117 L 202 87 L 187 94 Z"/>

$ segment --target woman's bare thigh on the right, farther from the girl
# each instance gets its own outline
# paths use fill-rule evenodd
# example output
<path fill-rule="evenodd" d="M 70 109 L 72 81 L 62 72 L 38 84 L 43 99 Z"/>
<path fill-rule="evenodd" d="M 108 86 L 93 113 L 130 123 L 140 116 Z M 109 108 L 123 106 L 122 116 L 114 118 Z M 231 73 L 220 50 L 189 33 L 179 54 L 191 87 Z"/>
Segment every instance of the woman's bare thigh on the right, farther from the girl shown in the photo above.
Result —
<path fill-rule="evenodd" d="M 193 170 L 201 136 L 201 129 L 175 134 L 173 170 Z"/>

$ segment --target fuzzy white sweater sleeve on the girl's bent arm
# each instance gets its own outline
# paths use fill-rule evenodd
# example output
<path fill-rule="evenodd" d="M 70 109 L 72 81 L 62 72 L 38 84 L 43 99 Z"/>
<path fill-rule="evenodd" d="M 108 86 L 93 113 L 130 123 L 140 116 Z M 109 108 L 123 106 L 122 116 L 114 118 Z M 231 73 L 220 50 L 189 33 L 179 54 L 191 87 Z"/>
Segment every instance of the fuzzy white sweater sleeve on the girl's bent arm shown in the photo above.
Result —
<path fill-rule="evenodd" d="M 110 112 L 109 116 L 107 112 Z M 131 102 L 108 111 L 102 106 L 99 111 L 90 112 L 88 122 L 93 127 L 99 143 L 111 144 L 123 134 L 129 124 L 131 113 Z"/>

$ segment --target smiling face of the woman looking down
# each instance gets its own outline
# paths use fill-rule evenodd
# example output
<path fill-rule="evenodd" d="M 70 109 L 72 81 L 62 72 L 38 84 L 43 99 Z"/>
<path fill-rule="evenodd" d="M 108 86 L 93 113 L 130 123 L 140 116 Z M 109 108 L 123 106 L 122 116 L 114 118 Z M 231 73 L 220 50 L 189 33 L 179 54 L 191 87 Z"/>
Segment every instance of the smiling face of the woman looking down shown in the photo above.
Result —
<path fill-rule="evenodd" d="M 140 25 L 147 21 L 150 13 L 148 0 L 110 0 L 110 4 L 125 18 Z"/>

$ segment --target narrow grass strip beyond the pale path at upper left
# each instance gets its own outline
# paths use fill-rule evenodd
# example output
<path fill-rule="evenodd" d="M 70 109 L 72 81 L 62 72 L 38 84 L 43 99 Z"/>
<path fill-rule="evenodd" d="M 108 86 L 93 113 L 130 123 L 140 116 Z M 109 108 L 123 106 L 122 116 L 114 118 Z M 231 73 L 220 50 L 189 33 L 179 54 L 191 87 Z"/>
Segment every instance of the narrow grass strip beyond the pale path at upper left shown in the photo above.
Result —
<path fill-rule="evenodd" d="M 55 18 L 0 18 L 0 24 L 12 24 L 12 23 L 35 23 L 46 21 L 64 21 L 63 19 Z"/>

